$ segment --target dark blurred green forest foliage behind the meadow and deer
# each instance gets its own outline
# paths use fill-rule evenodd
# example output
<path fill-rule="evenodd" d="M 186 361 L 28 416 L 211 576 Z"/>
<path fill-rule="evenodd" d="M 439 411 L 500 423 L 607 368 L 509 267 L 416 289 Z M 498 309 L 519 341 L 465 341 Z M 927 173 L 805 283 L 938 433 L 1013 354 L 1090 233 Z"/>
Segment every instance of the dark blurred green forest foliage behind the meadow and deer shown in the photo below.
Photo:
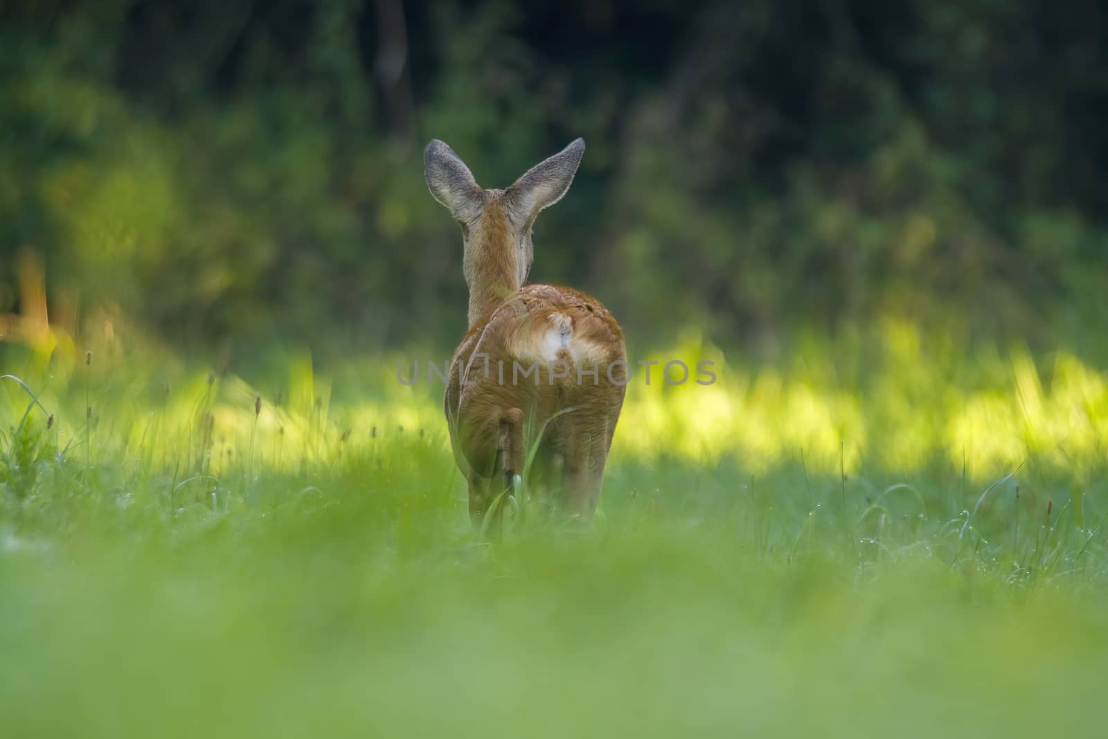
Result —
<path fill-rule="evenodd" d="M 725 342 L 900 315 L 1035 343 L 1108 309 L 1104 8 L 17 0 L 8 266 L 179 340 L 339 349 L 464 324 L 441 137 L 503 186 L 572 137 L 532 278 Z"/>

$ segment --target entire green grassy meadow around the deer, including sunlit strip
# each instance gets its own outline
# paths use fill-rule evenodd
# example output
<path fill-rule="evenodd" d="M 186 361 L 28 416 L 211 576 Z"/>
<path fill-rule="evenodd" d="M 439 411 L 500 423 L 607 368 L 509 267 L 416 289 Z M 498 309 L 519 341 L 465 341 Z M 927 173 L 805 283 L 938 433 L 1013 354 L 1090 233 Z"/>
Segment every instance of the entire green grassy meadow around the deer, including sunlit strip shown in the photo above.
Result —
<path fill-rule="evenodd" d="M 594 524 L 492 546 L 410 358 L 248 384 L 122 347 L 3 353 L 42 406 L 0 381 L 4 736 L 1108 730 L 1075 356 L 690 338 L 657 357 L 720 381 L 632 384 Z"/>

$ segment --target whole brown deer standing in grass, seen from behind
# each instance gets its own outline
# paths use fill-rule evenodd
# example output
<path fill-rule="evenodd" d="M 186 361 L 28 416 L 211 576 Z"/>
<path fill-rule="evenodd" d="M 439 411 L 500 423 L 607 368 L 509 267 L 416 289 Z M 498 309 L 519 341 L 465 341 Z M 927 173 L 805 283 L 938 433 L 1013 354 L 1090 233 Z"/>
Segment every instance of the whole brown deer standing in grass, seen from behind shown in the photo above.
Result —
<path fill-rule="evenodd" d="M 531 227 L 557 203 L 577 172 L 577 138 L 507 189 L 483 189 L 441 141 L 423 154 L 427 184 L 462 227 L 470 290 L 469 332 L 454 352 L 445 410 L 454 459 L 469 483 L 478 526 L 495 504 L 495 534 L 541 443 L 529 483 L 561 487 L 560 502 L 587 520 L 596 510 L 604 463 L 627 384 L 619 325 L 596 299 L 567 287 L 527 285 Z"/>

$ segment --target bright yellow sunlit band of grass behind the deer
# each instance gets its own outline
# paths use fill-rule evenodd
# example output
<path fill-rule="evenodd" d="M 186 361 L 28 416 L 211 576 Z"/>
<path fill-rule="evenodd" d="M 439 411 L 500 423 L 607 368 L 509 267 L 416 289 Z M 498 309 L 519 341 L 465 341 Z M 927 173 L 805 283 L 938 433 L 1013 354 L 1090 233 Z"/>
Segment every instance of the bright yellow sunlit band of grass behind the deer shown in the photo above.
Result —
<path fill-rule="evenodd" d="M 964 463 L 971 478 L 981 479 L 1032 458 L 1077 473 L 1108 451 L 1108 376 L 1071 353 L 1053 352 L 1038 366 L 1018 346 L 964 357 L 931 353 L 916 329 L 903 322 L 886 325 L 873 341 L 872 363 L 852 377 L 837 365 L 831 343 L 822 357 L 801 353 L 784 366 L 745 363 L 697 337 L 644 355 L 639 359 L 660 363 L 649 386 L 642 373 L 632 378 L 613 455 L 736 458 L 753 472 L 803 460 L 819 473 L 860 464 L 913 473 L 944 459 L 960 470 Z M 66 408 L 64 399 L 89 378 L 83 357 L 70 349 L 51 358 L 57 342 L 44 348 L 17 369 L 28 373 L 44 406 L 59 408 L 61 440 L 81 432 L 83 409 Z M 195 441 L 197 428 L 211 423 L 212 437 L 232 455 L 248 445 L 245 435 L 256 433 L 258 463 L 287 465 L 298 454 L 330 453 L 338 441 L 348 448 L 370 443 L 373 428 L 422 430 L 444 445 L 441 382 L 429 383 L 424 374 L 411 387 L 398 380 L 397 365 L 407 377 L 413 357 L 428 359 L 393 352 L 340 368 L 343 400 L 336 404 L 335 380 L 314 373 L 307 355 L 293 359 L 284 374 L 261 381 L 267 387 L 230 376 L 214 378 L 208 388 L 203 368 L 189 373 L 142 367 L 141 356 L 126 352 L 98 359 L 86 374 L 96 387 L 99 422 L 111 424 L 103 440 L 109 448 L 172 458 L 185 437 Z M 665 383 L 660 365 L 675 358 L 690 367 L 711 360 L 716 382 Z M 22 408 L 17 388 L 0 392 L 10 413 Z M 213 464 L 219 469 L 223 462 L 214 458 Z"/>

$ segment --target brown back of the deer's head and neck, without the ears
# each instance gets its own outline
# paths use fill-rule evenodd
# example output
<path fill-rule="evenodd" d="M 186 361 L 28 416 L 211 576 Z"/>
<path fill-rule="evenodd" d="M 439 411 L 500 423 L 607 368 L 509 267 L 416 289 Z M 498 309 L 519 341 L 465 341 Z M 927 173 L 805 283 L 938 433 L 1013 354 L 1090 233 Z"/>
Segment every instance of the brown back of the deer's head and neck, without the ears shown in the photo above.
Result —
<path fill-rule="evenodd" d="M 526 277 L 525 256 L 512 238 L 499 204 L 486 207 L 475 230 L 471 234 L 474 248 L 466 265 L 471 328 L 523 287 Z"/>

